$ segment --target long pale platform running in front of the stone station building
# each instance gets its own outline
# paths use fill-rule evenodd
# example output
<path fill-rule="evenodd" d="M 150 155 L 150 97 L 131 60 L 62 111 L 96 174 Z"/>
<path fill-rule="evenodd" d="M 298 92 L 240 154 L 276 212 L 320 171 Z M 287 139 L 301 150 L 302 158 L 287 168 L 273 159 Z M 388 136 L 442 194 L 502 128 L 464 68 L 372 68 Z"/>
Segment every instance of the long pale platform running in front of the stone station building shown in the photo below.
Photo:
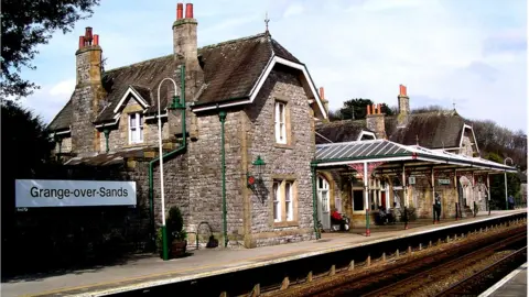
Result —
<path fill-rule="evenodd" d="M 365 237 L 361 230 L 357 233 L 357 229 L 354 229 L 349 233 L 323 233 L 317 241 L 256 249 L 197 250 L 192 251 L 191 256 L 165 262 L 155 256 L 134 256 L 119 265 L 4 280 L 1 296 L 98 296 L 127 292 L 260 267 L 523 212 L 527 210 L 493 211 L 490 216 L 484 212 L 476 218 L 442 220 L 439 224 L 424 219 L 410 223 L 408 230 L 402 226 L 376 227 L 373 228 L 370 237 Z"/>

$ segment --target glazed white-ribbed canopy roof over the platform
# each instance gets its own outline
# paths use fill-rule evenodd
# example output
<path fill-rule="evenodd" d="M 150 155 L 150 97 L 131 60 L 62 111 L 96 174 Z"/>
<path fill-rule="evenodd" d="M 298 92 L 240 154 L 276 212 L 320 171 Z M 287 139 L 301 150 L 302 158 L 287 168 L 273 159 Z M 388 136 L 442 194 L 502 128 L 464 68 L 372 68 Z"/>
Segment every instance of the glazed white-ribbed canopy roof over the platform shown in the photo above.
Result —
<path fill-rule="evenodd" d="M 447 164 L 494 172 L 516 173 L 511 166 L 484 160 L 449 153 L 443 150 L 429 150 L 419 145 L 403 145 L 388 140 L 353 141 L 316 145 L 313 164 L 317 167 L 339 166 L 374 162 L 417 162 Z"/>

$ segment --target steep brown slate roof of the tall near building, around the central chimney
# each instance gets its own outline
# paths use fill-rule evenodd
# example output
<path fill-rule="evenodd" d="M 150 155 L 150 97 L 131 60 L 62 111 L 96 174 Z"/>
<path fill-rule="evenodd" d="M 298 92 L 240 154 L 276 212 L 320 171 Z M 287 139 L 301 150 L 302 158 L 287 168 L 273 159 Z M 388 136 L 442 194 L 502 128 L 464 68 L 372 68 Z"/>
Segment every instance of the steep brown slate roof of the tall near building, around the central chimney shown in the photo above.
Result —
<path fill-rule="evenodd" d="M 250 96 L 261 73 L 276 55 L 284 59 L 300 63 L 268 33 L 227 41 L 198 48 L 198 57 L 207 85 L 196 101 L 196 106 L 215 103 L 234 98 Z M 148 59 L 125 67 L 107 70 L 102 77 L 102 86 L 107 91 L 105 107 L 95 119 L 95 123 L 112 122 L 114 109 L 127 89 L 132 86 L 151 106 L 148 112 L 158 110 L 158 85 L 165 77 L 175 78 L 176 66 L 173 55 Z M 301 64 L 301 63 L 300 63 Z M 169 84 L 162 86 L 160 101 L 168 106 Z M 190 99 L 187 99 L 190 100 Z M 58 112 L 48 128 L 53 130 L 69 127 L 72 123 L 71 101 Z"/>

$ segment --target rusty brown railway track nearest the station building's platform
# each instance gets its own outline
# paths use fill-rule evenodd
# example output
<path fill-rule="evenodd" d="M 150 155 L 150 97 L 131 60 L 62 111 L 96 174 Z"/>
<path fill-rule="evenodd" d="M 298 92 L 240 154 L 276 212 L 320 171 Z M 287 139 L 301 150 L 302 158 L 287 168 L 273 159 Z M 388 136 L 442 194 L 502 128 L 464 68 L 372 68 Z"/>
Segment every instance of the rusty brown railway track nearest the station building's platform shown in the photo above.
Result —
<path fill-rule="evenodd" d="M 527 226 L 510 227 L 504 231 L 469 241 L 452 242 L 414 255 L 384 258 L 382 265 L 369 263 L 355 272 L 336 271 L 336 275 L 274 292 L 273 296 L 408 296 L 410 293 L 450 275 L 454 270 L 467 267 L 490 256 L 512 242 L 527 239 Z M 444 246 L 444 248 L 443 248 Z M 485 246 L 485 248 L 483 248 Z M 428 249 L 430 250 L 430 249 Z M 427 251 L 428 251 L 427 250 Z M 465 258 L 462 261 L 462 258 Z M 366 261 L 368 262 L 368 261 Z M 452 267 L 451 267 L 452 265 Z M 432 268 L 435 267 L 435 268 Z M 270 295 L 270 296 L 272 296 Z"/>

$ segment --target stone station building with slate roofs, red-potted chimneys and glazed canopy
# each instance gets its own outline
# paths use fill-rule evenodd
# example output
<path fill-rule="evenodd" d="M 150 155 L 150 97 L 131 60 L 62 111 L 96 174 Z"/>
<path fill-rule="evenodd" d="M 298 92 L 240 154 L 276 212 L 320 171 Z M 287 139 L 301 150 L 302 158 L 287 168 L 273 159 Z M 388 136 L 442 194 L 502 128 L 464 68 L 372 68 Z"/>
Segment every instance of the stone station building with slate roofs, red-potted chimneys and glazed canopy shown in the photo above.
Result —
<path fill-rule="evenodd" d="M 360 212 L 375 199 L 415 206 L 420 216 L 431 216 L 433 187 L 455 197 L 454 185 L 461 183 L 447 176 L 450 185 L 438 186 L 441 172 L 434 170 L 435 178 L 430 179 L 419 169 L 422 174 L 432 164 L 436 169 L 445 163 L 450 166 L 442 174 L 466 178 L 471 170 L 510 169 L 475 155 L 472 127 L 455 112 L 409 114 L 406 87 L 395 119 L 374 107 L 366 121 L 328 122 L 323 88 L 322 94 L 316 91 L 306 66 L 268 30 L 198 48 L 193 4 L 185 6 L 184 16 L 179 3 L 172 31 L 172 54 L 106 70 L 99 36 L 87 28 L 75 53 L 75 90 L 48 127 L 57 143 L 55 153 L 68 168 L 63 178 L 86 179 L 77 172 L 98 167 L 115 172 L 114 179 L 137 182 L 137 207 L 127 210 L 136 238 L 153 239 L 161 223 L 159 100 L 165 209 L 180 207 L 190 245 L 197 240 L 204 244 L 210 234 L 246 248 L 309 240 L 317 233 L 316 220 L 328 221 L 330 209 L 336 207 L 361 223 Z M 345 145 L 344 152 L 367 146 L 360 155 L 341 155 L 338 164 L 326 153 L 335 145 Z M 393 147 L 400 155 L 382 156 L 377 163 L 380 156 L 371 156 L 370 147 Z M 263 168 L 253 165 L 258 157 L 264 161 Z M 398 182 L 391 177 L 408 180 L 411 175 L 415 183 L 400 182 L 404 187 L 398 194 Z M 249 176 L 257 178 L 251 187 Z M 363 184 L 358 182 L 363 176 L 370 178 Z M 91 177 L 98 178 L 104 177 Z M 443 215 L 453 213 L 456 199 L 443 200 L 447 209 Z M 469 198 L 458 199 L 468 205 Z"/>

